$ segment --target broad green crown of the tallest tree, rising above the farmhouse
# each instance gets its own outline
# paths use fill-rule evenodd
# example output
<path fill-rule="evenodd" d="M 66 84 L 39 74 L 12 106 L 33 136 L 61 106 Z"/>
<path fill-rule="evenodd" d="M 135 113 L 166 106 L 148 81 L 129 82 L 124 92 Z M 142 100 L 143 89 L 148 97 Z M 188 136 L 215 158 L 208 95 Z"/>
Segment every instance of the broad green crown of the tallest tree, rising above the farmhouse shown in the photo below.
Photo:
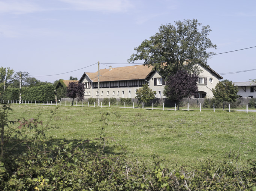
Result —
<path fill-rule="evenodd" d="M 164 78 L 180 70 L 198 74 L 195 64 L 207 67 L 207 59 L 213 54 L 207 49 L 217 47 L 208 38 L 210 26 L 200 30 L 201 23 L 196 19 L 175 21 L 175 25 L 161 25 L 159 32 L 134 49 L 136 53 L 128 62 L 145 60 L 144 65 L 154 66 Z"/>

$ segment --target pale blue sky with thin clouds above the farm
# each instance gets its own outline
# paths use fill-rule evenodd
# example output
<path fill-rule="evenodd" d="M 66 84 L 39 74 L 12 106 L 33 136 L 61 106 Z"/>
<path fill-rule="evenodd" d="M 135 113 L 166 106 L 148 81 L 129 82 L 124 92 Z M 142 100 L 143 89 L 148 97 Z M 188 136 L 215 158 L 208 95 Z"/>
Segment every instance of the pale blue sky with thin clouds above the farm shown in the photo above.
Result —
<path fill-rule="evenodd" d="M 210 26 L 214 53 L 256 46 L 255 0 L 0 0 L 1 66 L 40 81 L 80 79 L 96 72 L 97 62 L 110 63 L 100 69 L 129 66 L 114 63 L 128 63 L 160 25 L 184 19 Z M 219 74 L 255 69 L 222 75 L 250 81 L 256 79 L 255 54 L 256 47 L 218 54 L 207 63 Z"/>

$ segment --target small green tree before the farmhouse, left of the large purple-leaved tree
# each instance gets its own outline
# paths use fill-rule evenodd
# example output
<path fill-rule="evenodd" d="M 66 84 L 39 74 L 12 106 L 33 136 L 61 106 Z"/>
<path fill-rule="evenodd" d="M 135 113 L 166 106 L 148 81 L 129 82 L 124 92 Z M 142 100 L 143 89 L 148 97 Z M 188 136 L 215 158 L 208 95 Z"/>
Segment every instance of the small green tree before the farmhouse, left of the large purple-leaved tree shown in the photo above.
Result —
<path fill-rule="evenodd" d="M 148 103 L 155 98 L 155 95 L 156 91 L 152 91 L 148 84 L 143 84 L 142 88 L 137 89 L 135 98 L 138 99 L 139 103 Z"/>

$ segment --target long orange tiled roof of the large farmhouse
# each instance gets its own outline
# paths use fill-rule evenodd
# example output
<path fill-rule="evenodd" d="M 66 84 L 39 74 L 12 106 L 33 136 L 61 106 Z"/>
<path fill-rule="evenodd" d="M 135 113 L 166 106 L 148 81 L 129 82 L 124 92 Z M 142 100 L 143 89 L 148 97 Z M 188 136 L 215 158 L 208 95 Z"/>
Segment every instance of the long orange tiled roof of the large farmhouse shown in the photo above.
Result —
<path fill-rule="evenodd" d="M 148 67 L 143 65 L 112 68 L 111 70 L 101 69 L 100 82 L 145 79 L 152 69 L 153 68 L 151 66 Z M 98 81 L 98 72 L 87 72 L 86 74 L 92 82 Z"/>

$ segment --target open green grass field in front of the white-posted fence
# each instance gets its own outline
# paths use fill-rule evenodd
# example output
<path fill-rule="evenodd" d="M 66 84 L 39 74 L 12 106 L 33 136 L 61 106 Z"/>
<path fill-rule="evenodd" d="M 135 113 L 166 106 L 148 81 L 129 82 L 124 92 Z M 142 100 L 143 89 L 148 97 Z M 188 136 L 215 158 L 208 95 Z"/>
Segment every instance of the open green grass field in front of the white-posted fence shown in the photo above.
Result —
<path fill-rule="evenodd" d="M 48 122 L 56 106 L 12 104 L 9 120 L 36 118 Z M 127 160 L 152 164 L 152 155 L 166 160 L 166 166 L 194 166 L 209 157 L 238 157 L 240 165 L 255 159 L 256 113 L 228 110 L 150 110 L 116 107 L 59 106 L 46 136 L 78 141 L 100 135 L 103 113 L 108 112 L 106 137 L 123 145 Z M 118 150 L 115 150 L 118 152 Z"/>

